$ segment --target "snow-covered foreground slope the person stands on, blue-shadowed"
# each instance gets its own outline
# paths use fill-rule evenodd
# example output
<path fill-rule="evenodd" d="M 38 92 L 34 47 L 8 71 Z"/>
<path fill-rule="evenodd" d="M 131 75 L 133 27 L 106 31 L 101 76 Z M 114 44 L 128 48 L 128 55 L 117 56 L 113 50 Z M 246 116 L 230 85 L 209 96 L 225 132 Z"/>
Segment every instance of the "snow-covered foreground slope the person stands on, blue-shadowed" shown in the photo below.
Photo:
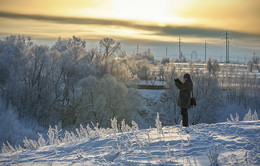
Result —
<path fill-rule="evenodd" d="M 219 165 L 256 166 L 259 157 L 260 121 L 244 121 L 112 133 L 1 153 L 0 165 L 208 166 L 217 158 Z"/>

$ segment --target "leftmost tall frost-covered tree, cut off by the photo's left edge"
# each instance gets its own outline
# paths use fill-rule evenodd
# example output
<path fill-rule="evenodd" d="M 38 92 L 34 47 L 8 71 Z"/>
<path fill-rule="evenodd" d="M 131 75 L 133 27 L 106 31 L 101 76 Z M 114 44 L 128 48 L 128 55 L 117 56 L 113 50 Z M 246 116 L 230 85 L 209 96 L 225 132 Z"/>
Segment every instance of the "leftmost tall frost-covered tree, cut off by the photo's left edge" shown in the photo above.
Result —
<path fill-rule="evenodd" d="M 32 67 L 38 67 L 31 66 L 31 62 L 36 61 L 33 47 L 28 36 L 11 35 L 0 41 L 0 64 L 4 64 L 2 68 L 5 73 L 5 78 L 1 81 L 1 94 L 8 103 L 17 106 L 20 116 L 27 115 L 26 104 L 29 104 L 29 108 L 32 107 L 35 100 L 30 101 L 31 96 L 37 93 L 36 90 L 32 91 L 38 74 L 36 70 L 33 75 L 34 71 L 31 70 Z"/>

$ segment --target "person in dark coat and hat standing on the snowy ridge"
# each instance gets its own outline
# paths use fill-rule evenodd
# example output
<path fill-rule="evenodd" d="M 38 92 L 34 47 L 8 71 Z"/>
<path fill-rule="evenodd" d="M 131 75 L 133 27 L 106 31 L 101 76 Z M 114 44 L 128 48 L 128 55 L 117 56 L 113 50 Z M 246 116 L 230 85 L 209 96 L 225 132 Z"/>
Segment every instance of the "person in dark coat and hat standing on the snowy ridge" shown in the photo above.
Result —
<path fill-rule="evenodd" d="M 181 107 L 182 125 L 188 127 L 188 108 L 191 105 L 191 92 L 193 83 L 190 74 L 186 73 L 183 76 L 184 82 L 179 79 L 174 79 L 175 86 L 180 90 L 178 98 L 178 106 Z"/>

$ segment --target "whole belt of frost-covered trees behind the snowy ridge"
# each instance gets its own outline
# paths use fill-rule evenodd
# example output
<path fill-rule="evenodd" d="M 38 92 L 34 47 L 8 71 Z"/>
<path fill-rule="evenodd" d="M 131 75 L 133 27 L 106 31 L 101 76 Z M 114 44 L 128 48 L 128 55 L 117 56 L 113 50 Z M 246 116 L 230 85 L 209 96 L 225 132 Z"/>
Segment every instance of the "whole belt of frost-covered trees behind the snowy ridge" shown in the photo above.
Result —
<path fill-rule="evenodd" d="M 108 127 L 113 118 L 131 124 L 141 116 L 149 122 L 146 115 L 156 111 L 166 125 L 179 123 L 177 90 L 172 80 L 182 77 L 186 70 L 177 71 L 174 60 L 168 57 L 156 60 L 150 49 L 127 55 L 112 38 L 100 40 L 99 48 L 89 48 L 85 40 L 75 36 L 58 38 L 52 46 L 37 45 L 23 35 L 0 40 L 0 108 L 1 115 L 9 117 L 1 125 L 16 118 L 30 119 L 43 128 L 90 123 Z M 216 110 L 224 103 L 222 85 L 240 82 L 235 91 L 228 92 L 227 101 L 259 108 L 259 78 L 248 79 L 248 73 L 240 78 L 232 67 L 220 67 L 214 59 L 208 59 L 206 73 L 194 68 L 192 61 L 188 65 L 198 102 L 191 113 L 191 124 L 216 122 Z M 134 84 L 139 80 L 164 81 L 169 90 L 159 102 L 151 104 L 135 88 L 126 87 L 129 80 Z M 150 104 L 152 110 L 144 104 Z M 8 107 L 15 114 L 8 113 Z"/>

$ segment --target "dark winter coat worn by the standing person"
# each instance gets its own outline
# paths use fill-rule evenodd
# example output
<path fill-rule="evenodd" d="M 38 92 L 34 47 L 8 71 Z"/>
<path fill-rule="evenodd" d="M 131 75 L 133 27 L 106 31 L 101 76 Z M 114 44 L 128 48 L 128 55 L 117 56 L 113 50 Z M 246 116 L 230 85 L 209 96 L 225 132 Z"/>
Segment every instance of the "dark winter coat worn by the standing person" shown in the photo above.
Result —
<path fill-rule="evenodd" d="M 176 87 L 180 90 L 178 98 L 178 106 L 181 108 L 190 108 L 190 98 L 193 88 L 191 79 L 186 80 L 184 83 L 175 81 Z"/>

